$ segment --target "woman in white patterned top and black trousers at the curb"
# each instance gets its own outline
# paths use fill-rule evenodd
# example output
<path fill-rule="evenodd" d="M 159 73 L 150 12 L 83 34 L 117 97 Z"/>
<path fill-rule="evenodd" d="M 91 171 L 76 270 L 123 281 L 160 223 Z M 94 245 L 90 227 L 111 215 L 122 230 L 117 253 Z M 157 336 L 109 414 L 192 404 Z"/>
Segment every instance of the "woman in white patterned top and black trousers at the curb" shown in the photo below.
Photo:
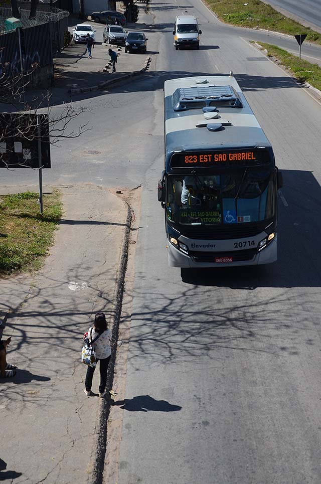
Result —
<path fill-rule="evenodd" d="M 99 396 L 106 395 L 107 370 L 111 355 L 111 331 L 107 328 L 107 321 L 103 312 L 97 312 L 92 328 L 89 328 L 88 334 L 85 333 L 84 339 L 89 338 L 93 341 L 93 349 L 96 353 L 97 363 L 99 361 L 100 385 Z M 92 378 L 94 376 L 95 366 L 88 366 L 85 379 L 85 394 L 91 395 Z"/>

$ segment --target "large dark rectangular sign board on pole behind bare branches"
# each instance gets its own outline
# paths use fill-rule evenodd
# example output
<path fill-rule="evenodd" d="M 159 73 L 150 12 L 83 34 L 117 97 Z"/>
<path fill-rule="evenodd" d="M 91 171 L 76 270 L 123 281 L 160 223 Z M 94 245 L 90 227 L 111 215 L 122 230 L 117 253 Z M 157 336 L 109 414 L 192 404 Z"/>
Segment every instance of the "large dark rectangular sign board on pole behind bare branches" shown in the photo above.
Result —
<path fill-rule="evenodd" d="M 47 114 L 0 113 L 0 168 L 51 168 Z"/>

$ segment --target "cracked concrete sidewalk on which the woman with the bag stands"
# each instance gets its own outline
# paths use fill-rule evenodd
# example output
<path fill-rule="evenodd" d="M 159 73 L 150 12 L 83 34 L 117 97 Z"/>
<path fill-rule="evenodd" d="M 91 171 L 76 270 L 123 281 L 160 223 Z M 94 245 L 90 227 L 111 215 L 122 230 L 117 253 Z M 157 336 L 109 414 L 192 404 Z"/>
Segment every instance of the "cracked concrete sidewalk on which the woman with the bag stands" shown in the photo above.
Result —
<path fill-rule="evenodd" d="M 96 458 L 99 371 L 88 398 L 82 336 L 97 311 L 112 323 L 128 211 L 100 187 L 60 189 L 65 215 L 44 267 L 0 279 L 2 317 L 14 311 L 4 330 L 12 336 L 7 361 L 19 367 L 0 379 L 0 480 L 17 484 L 87 482 Z"/>

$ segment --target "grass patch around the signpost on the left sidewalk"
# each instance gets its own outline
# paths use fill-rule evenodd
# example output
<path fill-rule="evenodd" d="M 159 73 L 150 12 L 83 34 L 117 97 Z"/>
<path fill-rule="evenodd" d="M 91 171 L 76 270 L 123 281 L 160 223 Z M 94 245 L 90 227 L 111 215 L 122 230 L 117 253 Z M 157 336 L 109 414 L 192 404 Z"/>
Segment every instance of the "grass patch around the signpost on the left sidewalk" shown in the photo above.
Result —
<path fill-rule="evenodd" d="M 44 195 L 39 213 L 38 193 L 0 196 L 0 275 L 38 269 L 54 241 L 62 216 L 60 193 Z"/>

